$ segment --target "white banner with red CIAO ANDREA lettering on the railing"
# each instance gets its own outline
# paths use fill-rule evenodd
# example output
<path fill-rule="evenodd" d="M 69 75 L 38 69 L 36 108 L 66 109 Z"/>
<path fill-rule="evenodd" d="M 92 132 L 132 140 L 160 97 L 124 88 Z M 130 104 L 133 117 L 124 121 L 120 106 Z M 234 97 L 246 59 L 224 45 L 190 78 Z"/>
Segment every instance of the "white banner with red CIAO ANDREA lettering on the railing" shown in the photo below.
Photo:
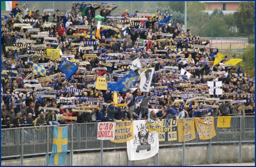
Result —
<path fill-rule="evenodd" d="M 114 140 L 115 139 L 115 123 L 102 122 L 98 123 L 98 140 Z"/>

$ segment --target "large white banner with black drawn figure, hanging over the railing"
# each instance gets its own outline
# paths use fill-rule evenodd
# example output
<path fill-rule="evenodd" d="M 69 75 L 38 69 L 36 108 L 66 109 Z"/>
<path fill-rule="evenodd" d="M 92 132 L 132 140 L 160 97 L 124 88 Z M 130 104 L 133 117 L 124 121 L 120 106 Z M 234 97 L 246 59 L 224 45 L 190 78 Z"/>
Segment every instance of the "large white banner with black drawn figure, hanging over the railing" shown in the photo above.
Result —
<path fill-rule="evenodd" d="M 149 133 L 145 120 L 134 121 L 134 139 L 127 141 L 129 160 L 149 159 L 159 150 L 159 134 L 156 130 Z"/>

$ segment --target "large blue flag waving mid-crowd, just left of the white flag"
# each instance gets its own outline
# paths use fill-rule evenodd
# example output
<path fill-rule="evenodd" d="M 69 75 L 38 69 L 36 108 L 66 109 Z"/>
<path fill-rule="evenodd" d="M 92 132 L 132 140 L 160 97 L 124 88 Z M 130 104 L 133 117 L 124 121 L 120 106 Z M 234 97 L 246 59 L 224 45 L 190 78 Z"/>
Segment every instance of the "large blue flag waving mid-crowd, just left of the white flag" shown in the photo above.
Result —
<path fill-rule="evenodd" d="M 137 81 L 138 77 L 135 74 L 134 70 L 126 75 L 124 78 L 120 78 L 117 82 L 109 82 L 107 83 L 107 88 L 110 88 L 111 92 L 118 91 L 120 93 L 125 93 L 132 84 Z"/>

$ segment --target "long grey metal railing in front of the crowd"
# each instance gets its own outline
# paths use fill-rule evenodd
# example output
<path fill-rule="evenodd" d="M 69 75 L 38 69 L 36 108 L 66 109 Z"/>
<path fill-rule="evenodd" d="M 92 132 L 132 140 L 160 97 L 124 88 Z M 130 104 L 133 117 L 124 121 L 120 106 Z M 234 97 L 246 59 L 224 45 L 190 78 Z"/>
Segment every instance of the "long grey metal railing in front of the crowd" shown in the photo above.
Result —
<path fill-rule="evenodd" d="M 255 142 L 255 117 L 233 116 L 230 128 L 217 128 L 218 118 L 214 118 L 216 136 L 210 140 L 200 140 L 198 133 L 196 138 L 185 143 L 176 141 L 159 141 L 160 147 L 166 146 L 194 146 L 200 144 L 238 144 L 239 155 L 242 143 Z M 68 124 L 68 152 L 73 151 L 100 151 L 109 149 L 126 149 L 126 143 L 112 143 L 109 140 L 97 140 L 97 123 Z M 53 126 L 41 126 L 36 130 L 34 126 L 26 128 L 2 129 L 1 134 L 1 158 L 2 160 L 20 157 L 20 165 L 23 164 L 23 156 L 44 155 L 49 157 L 52 151 Z M 196 131 L 196 129 L 195 129 Z M 184 150 L 185 151 L 185 150 Z M 183 154 L 185 154 L 183 151 Z M 210 151 L 210 149 L 209 149 Z M 102 165 L 101 153 L 101 165 Z M 209 153 L 210 154 L 210 153 Z M 242 162 L 242 156 L 239 156 Z M 48 159 L 46 160 L 48 165 Z M 72 159 L 71 159 L 72 161 Z M 185 161 L 184 161 L 185 162 Z M 209 160 L 210 163 L 210 160 Z M 72 162 L 70 162 L 72 164 Z M 130 164 L 130 163 L 129 163 Z"/>

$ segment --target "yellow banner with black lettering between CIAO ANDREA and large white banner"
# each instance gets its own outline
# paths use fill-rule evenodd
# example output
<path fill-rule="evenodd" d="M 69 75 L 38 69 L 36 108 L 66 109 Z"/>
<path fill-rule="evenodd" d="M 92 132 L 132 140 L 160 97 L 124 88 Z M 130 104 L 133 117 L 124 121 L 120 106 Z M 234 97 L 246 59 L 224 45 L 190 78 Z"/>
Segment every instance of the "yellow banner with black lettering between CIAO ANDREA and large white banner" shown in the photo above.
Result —
<path fill-rule="evenodd" d="M 115 136 L 114 140 L 110 140 L 113 143 L 125 143 L 134 138 L 134 126 L 130 120 L 114 122 L 115 125 Z"/>

